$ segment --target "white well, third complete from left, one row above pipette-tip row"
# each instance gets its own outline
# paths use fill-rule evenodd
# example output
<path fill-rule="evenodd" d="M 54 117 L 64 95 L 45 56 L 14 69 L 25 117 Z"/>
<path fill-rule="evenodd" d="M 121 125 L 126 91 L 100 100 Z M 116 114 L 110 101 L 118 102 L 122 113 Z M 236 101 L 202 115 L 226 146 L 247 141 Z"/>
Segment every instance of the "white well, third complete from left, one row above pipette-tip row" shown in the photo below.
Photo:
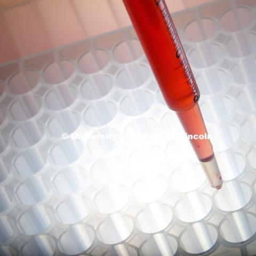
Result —
<path fill-rule="evenodd" d="M 116 184 L 101 188 L 93 201 L 100 213 L 114 213 L 121 210 L 129 200 L 129 191 Z"/>

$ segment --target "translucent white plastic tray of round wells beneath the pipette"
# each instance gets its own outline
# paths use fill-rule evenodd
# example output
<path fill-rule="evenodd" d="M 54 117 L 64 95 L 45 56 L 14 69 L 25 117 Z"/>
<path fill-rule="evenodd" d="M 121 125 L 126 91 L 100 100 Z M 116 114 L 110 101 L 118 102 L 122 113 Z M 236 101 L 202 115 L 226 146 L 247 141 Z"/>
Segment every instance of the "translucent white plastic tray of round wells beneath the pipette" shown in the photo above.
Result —
<path fill-rule="evenodd" d="M 223 188 L 209 186 L 132 27 L 4 63 L 0 255 L 255 255 L 256 2 L 173 19 Z"/>

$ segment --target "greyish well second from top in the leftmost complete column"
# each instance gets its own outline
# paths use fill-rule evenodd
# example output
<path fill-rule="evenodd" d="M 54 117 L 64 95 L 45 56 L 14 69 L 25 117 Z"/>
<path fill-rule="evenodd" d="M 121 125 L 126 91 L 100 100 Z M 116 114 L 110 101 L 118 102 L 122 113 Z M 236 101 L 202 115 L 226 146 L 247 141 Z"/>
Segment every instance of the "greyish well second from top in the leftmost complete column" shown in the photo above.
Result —
<path fill-rule="evenodd" d="M 14 120 L 25 121 L 34 117 L 41 109 L 41 99 L 28 93 L 17 97 L 10 106 L 10 114 Z"/>

